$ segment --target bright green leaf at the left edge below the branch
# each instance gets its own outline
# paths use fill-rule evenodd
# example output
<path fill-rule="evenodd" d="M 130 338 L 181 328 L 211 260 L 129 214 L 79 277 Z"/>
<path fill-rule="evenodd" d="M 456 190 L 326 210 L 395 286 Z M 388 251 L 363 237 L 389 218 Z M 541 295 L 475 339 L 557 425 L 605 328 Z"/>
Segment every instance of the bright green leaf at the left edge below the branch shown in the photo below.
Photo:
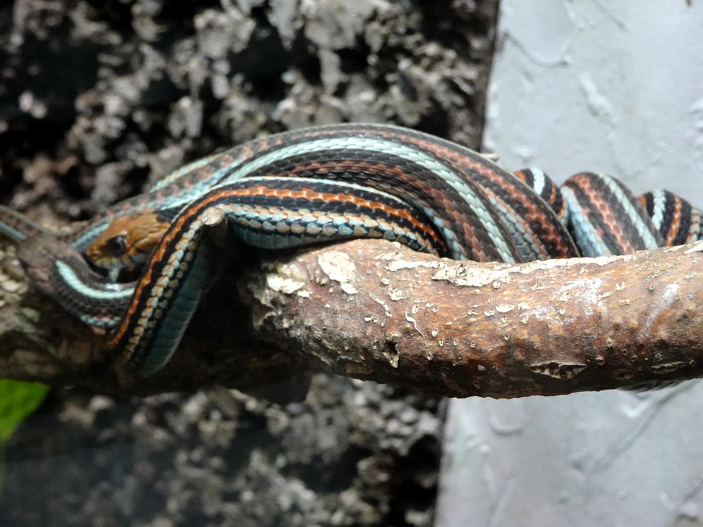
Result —
<path fill-rule="evenodd" d="M 0 379 L 0 444 L 44 401 L 49 386 L 41 382 Z"/>

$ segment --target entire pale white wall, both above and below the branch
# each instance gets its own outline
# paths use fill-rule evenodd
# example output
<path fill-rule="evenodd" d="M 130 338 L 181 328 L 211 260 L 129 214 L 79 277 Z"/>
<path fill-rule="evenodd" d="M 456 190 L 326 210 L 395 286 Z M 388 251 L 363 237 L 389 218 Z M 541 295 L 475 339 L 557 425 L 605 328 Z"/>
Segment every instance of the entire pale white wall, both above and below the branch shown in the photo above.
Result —
<path fill-rule="evenodd" d="M 503 0 L 484 150 L 703 207 L 703 3 Z M 703 381 L 451 401 L 438 527 L 703 525 Z"/>

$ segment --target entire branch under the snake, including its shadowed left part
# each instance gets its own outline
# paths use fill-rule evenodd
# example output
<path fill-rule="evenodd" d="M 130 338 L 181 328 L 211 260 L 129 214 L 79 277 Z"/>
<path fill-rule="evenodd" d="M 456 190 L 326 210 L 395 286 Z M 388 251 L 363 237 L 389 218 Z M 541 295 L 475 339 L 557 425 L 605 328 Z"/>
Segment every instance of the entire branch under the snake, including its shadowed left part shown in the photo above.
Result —
<path fill-rule="evenodd" d="M 223 384 L 281 400 L 304 395 L 311 367 L 452 397 L 690 379 L 703 376 L 702 259 L 703 242 L 517 266 L 381 240 L 276 254 L 233 269 L 147 379 L 110 367 L 103 337 L 5 273 L 0 377 L 139 394 Z"/>

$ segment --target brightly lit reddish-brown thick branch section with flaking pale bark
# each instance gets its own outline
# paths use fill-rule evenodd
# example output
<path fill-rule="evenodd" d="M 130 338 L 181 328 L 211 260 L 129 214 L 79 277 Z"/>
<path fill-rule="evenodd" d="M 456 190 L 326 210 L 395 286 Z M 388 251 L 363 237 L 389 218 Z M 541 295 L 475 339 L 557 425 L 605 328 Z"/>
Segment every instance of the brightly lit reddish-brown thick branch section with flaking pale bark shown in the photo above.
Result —
<path fill-rule="evenodd" d="M 351 242 L 266 263 L 252 323 L 329 370 L 450 397 L 703 376 L 703 242 L 510 266 Z"/>

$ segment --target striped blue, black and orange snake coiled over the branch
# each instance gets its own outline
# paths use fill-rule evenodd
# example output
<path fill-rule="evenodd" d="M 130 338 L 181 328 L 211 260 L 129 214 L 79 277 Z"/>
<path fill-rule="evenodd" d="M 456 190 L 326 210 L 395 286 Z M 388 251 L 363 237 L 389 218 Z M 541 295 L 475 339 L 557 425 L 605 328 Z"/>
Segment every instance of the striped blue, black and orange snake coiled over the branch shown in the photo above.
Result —
<path fill-rule="evenodd" d="M 2 209 L 0 233 L 20 249 L 41 237 L 41 251 L 25 259 L 30 278 L 106 328 L 120 362 L 148 374 L 172 356 L 221 268 L 205 235 L 213 217 L 259 249 L 383 238 L 507 263 L 628 254 L 703 236 L 702 215 L 671 193 L 636 199 L 590 173 L 557 188 L 536 169 L 510 174 L 450 141 L 365 124 L 285 132 L 198 160 L 67 236 Z M 140 278 L 120 282 L 124 268 L 141 269 Z"/>

